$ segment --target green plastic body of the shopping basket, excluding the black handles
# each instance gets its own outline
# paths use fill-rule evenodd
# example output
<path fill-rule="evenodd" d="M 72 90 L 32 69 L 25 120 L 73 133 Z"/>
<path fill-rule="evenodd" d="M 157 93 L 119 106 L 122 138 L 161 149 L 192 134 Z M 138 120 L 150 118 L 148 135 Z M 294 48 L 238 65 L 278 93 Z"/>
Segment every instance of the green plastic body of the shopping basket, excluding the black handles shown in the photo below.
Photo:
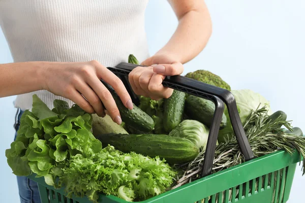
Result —
<path fill-rule="evenodd" d="M 289 198 L 299 154 L 285 151 L 252 159 L 206 176 L 141 202 L 281 203 Z M 43 203 L 89 203 L 86 197 L 65 196 L 64 188 L 54 189 L 44 178 L 28 178 L 38 183 Z M 112 195 L 100 195 L 99 202 L 128 202 Z"/>

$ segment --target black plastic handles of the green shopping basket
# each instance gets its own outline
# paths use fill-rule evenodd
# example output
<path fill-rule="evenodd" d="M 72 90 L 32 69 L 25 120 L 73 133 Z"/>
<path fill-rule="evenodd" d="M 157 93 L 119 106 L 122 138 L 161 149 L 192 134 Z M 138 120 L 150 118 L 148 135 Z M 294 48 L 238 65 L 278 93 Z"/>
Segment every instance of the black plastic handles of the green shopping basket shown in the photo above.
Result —
<path fill-rule="evenodd" d="M 113 72 L 123 81 L 136 105 L 138 104 L 139 100 L 137 95 L 135 95 L 135 93 L 132 91 L 132 88 L 129 84 L 128 74 L 137 66 L 141 65 L 122 62 L 116 65 L 116 67 L 107 67 L 111 72 Z M 245 129 L 243 129 L 240 117 L 238 115 L 235 98 L 230 91 L 222 89 L 220 87 L 202 83 L 190 78 L 186 78 L 184 76 L 168 76 L 163 80 L 162 84 L 165 87 L 169 87 L 178 91 L 186 92 L 188 94 L 211 100 L 215 104 L 214 117 L 210 126 L 204 155 L 204 162 L 202 168 L 203 177 L 210 175 L 212 172 L 218 132 L 225 104 L 227 105 L 231 124 L 236 139 L 238 141 L 241 153 L 245 157 L 246 161 L 254 158 L 249 141 L 246 137 Z"/>

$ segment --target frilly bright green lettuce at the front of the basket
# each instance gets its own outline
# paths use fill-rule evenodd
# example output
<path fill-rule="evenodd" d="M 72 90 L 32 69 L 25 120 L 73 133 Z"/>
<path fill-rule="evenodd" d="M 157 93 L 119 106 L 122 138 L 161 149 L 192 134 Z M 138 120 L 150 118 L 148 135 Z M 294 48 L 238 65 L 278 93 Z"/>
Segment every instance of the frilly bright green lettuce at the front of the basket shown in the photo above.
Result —
<path fill-rule="evenodd" d="M 81 154 L 72 156 L 63 173 L 61 180 L 68 196 L 81 194 L 95 201 L 99 193 L 128 201 L 144 200 L 164 192 L 175 175 L 159 157 L 126 154 L 110 145 L 87 158 Z"/>

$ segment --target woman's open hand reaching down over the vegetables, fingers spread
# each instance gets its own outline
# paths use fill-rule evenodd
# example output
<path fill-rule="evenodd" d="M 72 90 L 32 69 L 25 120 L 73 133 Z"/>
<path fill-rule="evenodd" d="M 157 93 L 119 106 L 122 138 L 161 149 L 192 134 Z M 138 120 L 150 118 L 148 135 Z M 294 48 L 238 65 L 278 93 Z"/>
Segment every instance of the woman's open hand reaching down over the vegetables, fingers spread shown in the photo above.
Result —
<path fill-rule="evenodd" d="M 98 61 L 49 62 L 43 70 L 43 89 L 72 100 L 88 113 L 104 117 L 106 109 L 114 122 L 121 123 L 115 101 L 100 79 L 113 87 L 128 109 L 133 109 L 123 82 Z"/>

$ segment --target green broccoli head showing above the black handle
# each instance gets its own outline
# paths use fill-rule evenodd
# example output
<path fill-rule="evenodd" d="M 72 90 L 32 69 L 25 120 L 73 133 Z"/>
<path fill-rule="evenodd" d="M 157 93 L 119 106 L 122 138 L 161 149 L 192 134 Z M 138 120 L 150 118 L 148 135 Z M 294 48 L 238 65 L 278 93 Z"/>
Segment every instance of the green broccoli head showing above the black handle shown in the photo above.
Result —
<path fill-rule="evenodd" d="M 209 71 L 198 70 L 192 73 L 188 73 L 185 77 L 198 80 L 203 83 L 214 85 L 223 89 L 231 91 L 230 85 L 223 81 L 218 75 L 215 75 Z"/>

